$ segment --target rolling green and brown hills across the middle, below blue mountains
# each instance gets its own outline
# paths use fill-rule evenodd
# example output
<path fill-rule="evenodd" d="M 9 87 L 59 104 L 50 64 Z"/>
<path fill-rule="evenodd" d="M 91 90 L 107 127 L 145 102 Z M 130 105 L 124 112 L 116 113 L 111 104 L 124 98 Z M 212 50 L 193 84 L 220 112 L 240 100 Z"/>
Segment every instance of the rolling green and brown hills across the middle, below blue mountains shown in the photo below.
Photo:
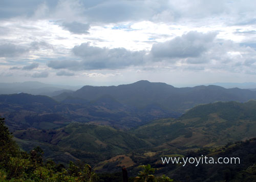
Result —
<path fill-rule="evenodd" d="M 178 119 L 154 120 L 131 130 L 75 122 L 58 129 L 16 130 L 14 136 L 22 148 L 40 146 L 56 162 L 79 158 L 95 164 L 98 171 L 114 172 L 120 164 L 132 167 L 166 153 L 185 155 L 256 137 L 255 108 L 256 101 L 217 102 L 196 106 Z"/>

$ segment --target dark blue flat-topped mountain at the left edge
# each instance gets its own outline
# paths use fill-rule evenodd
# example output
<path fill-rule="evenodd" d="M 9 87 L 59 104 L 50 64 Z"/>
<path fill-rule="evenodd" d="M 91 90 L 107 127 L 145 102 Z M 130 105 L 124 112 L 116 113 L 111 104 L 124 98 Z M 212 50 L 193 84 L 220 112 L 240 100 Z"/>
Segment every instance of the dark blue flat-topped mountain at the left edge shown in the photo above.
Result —
<path fill-rule="evenodd" d="M 58 110 L 59 103 L 47 96 L 0 95 L 0 115 L 6 118 L 11 131 L 30 127 L 49 129 L 70 123 Z"/>

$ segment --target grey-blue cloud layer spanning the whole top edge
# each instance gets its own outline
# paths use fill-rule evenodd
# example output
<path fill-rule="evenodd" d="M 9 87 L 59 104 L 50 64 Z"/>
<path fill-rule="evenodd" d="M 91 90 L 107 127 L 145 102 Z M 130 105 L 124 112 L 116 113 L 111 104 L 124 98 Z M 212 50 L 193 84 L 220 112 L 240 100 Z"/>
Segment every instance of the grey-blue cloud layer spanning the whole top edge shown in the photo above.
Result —
<path fill-rule="evenodd" d="M 139 20 L 183 23 L 191 19 L 210 18 L 219 19 L 225 24 L 252 25 L 256 19 L 253 8 L 255 6 L 256 3 L 249 0 L 9 0 L 0 1 L 0 19 L 50 18 L 69 22 L 86 19 L 92 25 Z"/>

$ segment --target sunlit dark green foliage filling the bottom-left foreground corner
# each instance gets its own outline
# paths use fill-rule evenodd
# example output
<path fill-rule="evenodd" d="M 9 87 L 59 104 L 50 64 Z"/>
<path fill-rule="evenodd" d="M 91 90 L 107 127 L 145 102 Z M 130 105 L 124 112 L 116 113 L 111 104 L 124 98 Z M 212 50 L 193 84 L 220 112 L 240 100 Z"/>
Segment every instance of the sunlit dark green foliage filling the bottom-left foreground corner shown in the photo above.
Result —
<path fill-rule="evenodd" d="M 0 181 L 66 181 L 93 182 L 98 181 L 91 166 L 84 163 L 70 162 L 69 168 L 57 165 L 53 161 L 44 163 L 44 151 L 36 147 L 29 153 L 19 151 L 12 141 L 12 135 L 0 118 Z"/>

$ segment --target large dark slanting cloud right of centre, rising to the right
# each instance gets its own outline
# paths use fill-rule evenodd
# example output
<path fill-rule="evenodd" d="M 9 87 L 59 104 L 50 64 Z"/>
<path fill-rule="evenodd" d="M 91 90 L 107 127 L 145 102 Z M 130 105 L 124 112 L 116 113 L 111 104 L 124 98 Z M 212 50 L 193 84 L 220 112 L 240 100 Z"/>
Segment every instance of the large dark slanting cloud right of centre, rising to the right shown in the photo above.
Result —
<path fill-rule="evenodd" d="M 210 48 L 215 36 L 214 32 L 191 31 L 181 37 L 153 44 L 151 54 L 154 58 L 199 57 Z"/>

